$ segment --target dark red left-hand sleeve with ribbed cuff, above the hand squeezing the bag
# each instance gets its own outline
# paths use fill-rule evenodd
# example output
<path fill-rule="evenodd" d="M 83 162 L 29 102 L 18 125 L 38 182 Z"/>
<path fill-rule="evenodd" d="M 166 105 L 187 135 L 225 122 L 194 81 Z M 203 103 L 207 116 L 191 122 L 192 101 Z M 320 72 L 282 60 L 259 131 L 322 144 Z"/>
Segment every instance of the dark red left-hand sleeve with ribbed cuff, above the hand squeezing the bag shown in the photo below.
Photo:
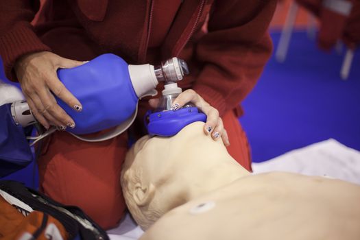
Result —
<path fill-rule="evenodd" d="M 31 21 L 38 11 L 38 1 L 0 0 L 0 56 L 6 77 L 16 81 L 17 58 L 36 51 L 49 51 L 36 36 Z"/>

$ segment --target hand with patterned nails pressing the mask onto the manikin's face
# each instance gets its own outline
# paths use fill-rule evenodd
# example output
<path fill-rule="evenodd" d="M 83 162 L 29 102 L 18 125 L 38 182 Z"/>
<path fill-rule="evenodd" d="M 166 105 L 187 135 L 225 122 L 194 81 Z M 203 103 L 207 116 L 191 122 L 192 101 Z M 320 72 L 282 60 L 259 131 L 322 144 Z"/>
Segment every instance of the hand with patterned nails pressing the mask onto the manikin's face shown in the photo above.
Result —
<path fill-rule="evenodd" d="M 192 89 L 188 89 L 187 91 L 180 93 L 180 95 L 178 95 L 178 97 L 176 97 L 176 99 L 173 101 L 173 106 L 171 110 L 177 110 L 188 102 L 193 103 L 206 115 L 207 119 L 204 125 L 204 133 L 206 135 L 211 134 L 211 137 L 214 140 L 220 139 L 221 137 L 224 145 L 230 145 L 228 133 L 224 128 L 221 117 L 219 117 L 219 111 L 216 108 L 213 108 L 213 106 L 211 106 L 210 104 L 208 104 L 200 95 L 198 95 Z M 156 107 L 157 103 L 158 99 L 149 100 L 149 104 L 153 108 Z"/>

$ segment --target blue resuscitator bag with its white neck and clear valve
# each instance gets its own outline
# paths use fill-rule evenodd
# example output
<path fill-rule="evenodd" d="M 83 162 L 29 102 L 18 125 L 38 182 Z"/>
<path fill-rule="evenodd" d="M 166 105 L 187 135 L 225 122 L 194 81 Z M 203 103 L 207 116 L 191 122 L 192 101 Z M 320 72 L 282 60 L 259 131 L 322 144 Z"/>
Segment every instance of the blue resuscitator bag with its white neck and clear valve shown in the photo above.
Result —
<path fill-rule="evenodd" d="M 60 81 L 82 104 L 81 112 L 76 112 L 58 97 L 56 100 L 75 121 L 75 128 L 67 128 L 68 132 L 83 141 L 104 141 L 130 127 L 139 99 L 156 95 L 158 82 L 175 83 L 187 72 L 187 64 L 178 58 L 170 58 L 154 67 L 151 64 L 129 65 L 119 56 L 107 53 L 79 67 L 58 70 Z M 32 115 L 24 119 L 22 113 L 27 110 L 26 102 L 13 103 L 12 117 L 17 125 L 25 127 L 35 121 Z M 101 136 L 80 136 L 115 126 L 115 130 Z M 36 141 L 54 131 L 56 128 L 51 128 Z"/>

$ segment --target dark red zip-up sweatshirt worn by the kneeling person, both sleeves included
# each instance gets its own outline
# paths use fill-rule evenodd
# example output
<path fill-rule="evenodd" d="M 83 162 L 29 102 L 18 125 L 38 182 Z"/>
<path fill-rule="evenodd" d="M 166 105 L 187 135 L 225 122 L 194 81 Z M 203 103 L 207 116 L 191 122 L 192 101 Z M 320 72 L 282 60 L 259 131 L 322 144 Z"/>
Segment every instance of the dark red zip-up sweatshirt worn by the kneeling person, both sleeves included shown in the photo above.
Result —
<path fill-rule="evenodd" d="M 178 56 L 191 71 L 180 87 L 193 88 L 224 115 L 240 110 L 270 56 L 267 27 L 276 1 L 44 0 L 33 21 L 39 7 L 0 1 L 0 55 L 10 80 L 16 59 L 35 51 L 73 60 L 110 52 L 129 64 Z"/>

